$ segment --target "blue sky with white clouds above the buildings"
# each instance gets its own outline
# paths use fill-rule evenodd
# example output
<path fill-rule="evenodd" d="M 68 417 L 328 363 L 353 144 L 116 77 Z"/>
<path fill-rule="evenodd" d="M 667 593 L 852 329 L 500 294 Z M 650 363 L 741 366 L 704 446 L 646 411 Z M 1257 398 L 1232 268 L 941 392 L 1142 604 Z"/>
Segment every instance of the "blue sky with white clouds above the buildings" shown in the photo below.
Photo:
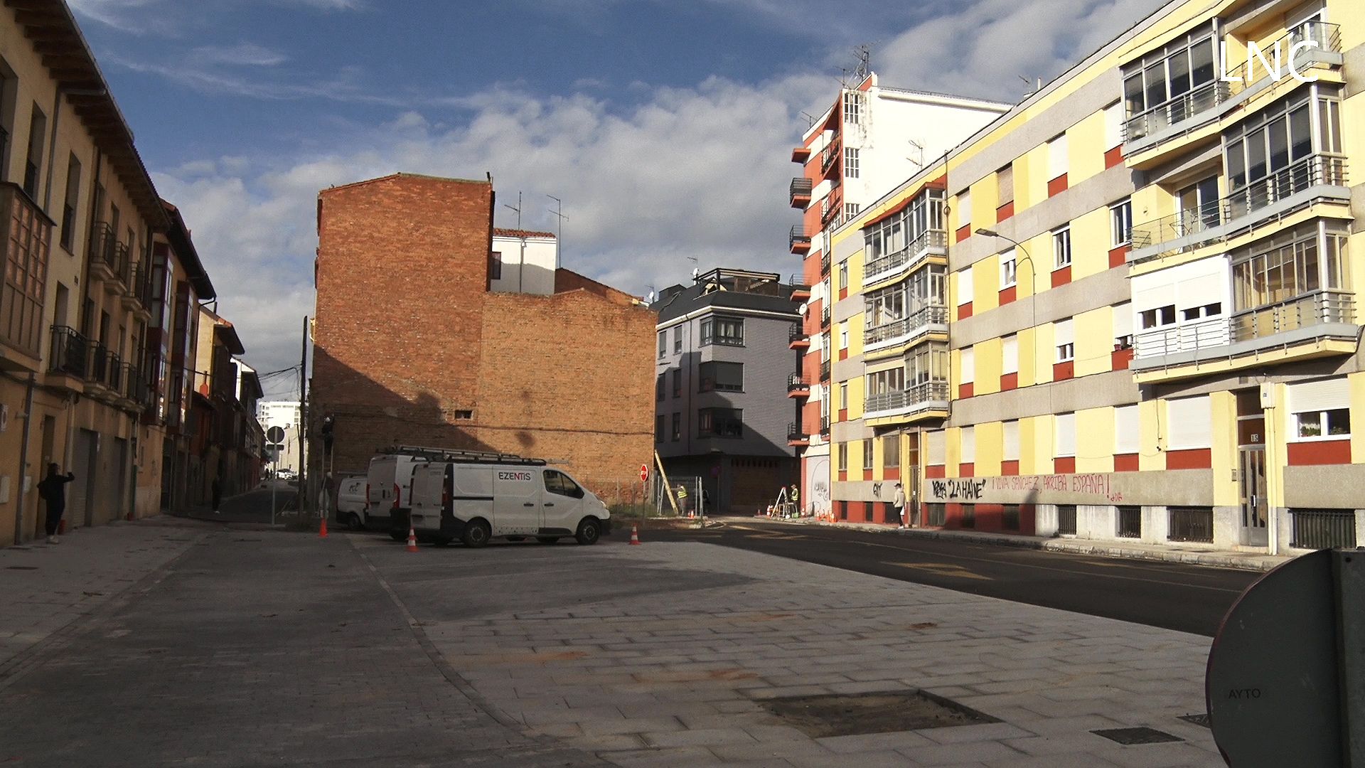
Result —
<path fill-rule="evenodd" d="M 296 359 L 313 309 L 322 187 L 491 172 L 527 227 L 564 198 L 565 265 L 640 294 L 696 264 L 796 272 L 789 149 L 856 44 L 885 85 L 1014 101 L 1016 75 L 1051 78 L 1158 5 L 70 1 L 263 370 Z"/>

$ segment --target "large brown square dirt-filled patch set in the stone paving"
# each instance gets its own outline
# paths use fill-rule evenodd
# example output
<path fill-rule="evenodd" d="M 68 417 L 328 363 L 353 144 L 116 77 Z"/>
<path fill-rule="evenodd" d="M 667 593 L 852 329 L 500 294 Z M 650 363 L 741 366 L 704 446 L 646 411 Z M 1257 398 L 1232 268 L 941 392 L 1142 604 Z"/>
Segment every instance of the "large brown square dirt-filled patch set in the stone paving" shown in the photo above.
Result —
<path fill-rule="evenodd" d="M 990 715 L 921 690 L 796 696 L 759 704 L 811 738 L 999 723 Z"/>

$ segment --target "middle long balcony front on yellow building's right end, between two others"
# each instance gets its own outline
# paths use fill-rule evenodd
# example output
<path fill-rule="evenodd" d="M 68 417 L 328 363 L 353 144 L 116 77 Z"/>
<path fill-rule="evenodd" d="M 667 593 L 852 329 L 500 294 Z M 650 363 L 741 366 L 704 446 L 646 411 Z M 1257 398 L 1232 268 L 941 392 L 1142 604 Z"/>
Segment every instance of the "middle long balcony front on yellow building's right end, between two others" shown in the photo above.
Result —
<path fill-rule="evenodd" d="M 1313 154 L 1234 194 L 1133 227 L 1129 261 L 1145 261 L 1226 242 L 1314 202 L 1349 205 L 1346 159 Z"/>

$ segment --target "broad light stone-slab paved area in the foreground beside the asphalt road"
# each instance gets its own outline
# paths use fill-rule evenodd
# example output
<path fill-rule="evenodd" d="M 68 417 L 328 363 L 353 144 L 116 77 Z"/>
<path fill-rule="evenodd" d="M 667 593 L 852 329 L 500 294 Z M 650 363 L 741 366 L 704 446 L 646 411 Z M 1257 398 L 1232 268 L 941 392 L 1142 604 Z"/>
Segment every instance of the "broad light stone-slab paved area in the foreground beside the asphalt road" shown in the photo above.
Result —
<path fill-rule="evenodd" d="M 618 765 L 1223 765 L 1177 719 L 1204 712 L 1204 637 L 698 543 L 403 556 L 352 541 L 490 707 Z M 515 611 L 423 593 L 433 573 L 463 594 L 487 568 Z M 815 739 L 762 707 L 906 689 L 1001 723 Z M 1089 732 L 1133 726 L 1186 741 Z"/>

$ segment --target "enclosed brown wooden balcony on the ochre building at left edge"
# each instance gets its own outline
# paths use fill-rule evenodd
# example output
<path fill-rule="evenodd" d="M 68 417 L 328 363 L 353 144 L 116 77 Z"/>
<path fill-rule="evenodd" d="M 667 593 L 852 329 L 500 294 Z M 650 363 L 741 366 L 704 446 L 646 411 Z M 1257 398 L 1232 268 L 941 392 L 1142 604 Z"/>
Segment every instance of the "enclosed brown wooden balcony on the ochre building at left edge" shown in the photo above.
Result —
<path fill-rule="evenodd" d="M 0 184 L 0 368 L 40 370 L 52 220 L 15 184 Z"/>

